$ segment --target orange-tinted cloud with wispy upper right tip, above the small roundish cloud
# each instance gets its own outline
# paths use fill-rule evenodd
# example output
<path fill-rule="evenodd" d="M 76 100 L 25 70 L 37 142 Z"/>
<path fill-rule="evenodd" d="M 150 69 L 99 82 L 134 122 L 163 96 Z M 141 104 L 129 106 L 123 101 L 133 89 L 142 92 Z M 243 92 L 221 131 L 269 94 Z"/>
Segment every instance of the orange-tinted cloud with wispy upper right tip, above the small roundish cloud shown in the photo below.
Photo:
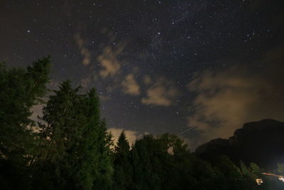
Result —
<path fill-rule="evenodd" d="M 121 64 L 117 60 L 117 56 L 124 50 L 124 45 L 118 46 L 117 50 L 114 51 L 111 46 L 104 48 L 102 55 L 98 56 L 97 60 L 102 66 L 102 70 L 99 71 L 99 75 L 102 78 L 115 75 L 121 68 Z"/>

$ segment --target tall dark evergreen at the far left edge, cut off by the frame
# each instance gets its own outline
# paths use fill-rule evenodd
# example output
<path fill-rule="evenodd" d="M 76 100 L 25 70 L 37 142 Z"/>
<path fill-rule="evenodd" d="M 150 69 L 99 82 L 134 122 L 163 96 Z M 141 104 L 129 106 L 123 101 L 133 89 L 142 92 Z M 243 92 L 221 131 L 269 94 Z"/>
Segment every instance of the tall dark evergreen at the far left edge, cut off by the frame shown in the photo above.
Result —
<path fill-rule="evenodd" d="M 29 117 L 31 107 L 41 102 L 47 92 L 49 73 L 50 57 L 39 59 L 26 69 L 0 64 L 0 176 L 9 189 L 28 188 L 28 165 L 38 143 Z"/>

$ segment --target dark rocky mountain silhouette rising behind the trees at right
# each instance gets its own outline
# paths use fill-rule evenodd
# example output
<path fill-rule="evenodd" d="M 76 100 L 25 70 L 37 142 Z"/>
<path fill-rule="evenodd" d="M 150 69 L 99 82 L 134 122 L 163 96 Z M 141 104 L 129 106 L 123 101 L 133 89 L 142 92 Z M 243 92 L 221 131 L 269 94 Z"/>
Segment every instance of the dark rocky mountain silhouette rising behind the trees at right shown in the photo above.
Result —
<path fill-rule="evenodd" d="M 284 122 L 261 120 L 248 122 L 229 139 L 212 139 L 197 147 L 195 154 L 203 159 L 224 154 L 235 164 L 255 162 L 264 169 L 273 170 L 284 162 Z"/>

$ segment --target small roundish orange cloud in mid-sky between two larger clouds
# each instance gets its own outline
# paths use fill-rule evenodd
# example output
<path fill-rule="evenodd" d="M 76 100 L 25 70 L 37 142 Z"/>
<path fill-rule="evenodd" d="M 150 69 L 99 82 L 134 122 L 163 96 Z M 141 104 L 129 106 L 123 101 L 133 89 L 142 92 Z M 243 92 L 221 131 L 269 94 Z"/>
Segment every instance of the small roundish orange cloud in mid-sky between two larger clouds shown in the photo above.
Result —
<path fill-rule="evenodd" d="M 129 74 L 126 78 L 122 81 L 121 85 L 123 86 L 122 91 L 125 94 L 129 95 L 139 95 L 141 93 L 140 86 L 137 84 L 134 75 Z"/>

